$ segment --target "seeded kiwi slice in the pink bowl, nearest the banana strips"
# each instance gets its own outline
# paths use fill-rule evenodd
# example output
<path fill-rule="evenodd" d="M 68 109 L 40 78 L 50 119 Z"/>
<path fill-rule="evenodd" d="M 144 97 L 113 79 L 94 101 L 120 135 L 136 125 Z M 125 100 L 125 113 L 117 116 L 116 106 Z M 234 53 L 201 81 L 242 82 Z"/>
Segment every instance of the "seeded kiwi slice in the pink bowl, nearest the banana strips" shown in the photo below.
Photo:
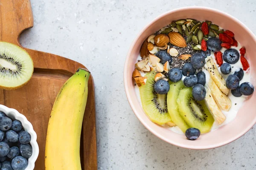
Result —
<path fill-rule="evenodd" d="M 198 128 L 201 133 L 211 130 L 214 119 L 204 100 L 196 101 L 192 96 L 192 88 L 183 88 L 177 98 L 180 116 L 189 127 Z"/>

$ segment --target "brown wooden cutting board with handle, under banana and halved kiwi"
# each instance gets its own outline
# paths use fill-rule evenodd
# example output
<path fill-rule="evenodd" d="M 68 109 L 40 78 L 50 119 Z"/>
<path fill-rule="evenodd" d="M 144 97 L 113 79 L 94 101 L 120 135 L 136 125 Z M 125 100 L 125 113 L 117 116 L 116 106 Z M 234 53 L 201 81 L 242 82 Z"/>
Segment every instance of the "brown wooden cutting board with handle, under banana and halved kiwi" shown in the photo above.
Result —
<path fill-rule="evenodd" d="M 0 0 L 0 40 L 20 45 L 20 34 L 33 27 L 29 0 Z M 21 46 L 21 45 L 20 45 Z M 25 48 L 34 62 L 32 79 L 23 88 L 0 90 L 0 104 L 15 108 L 26 116 L 37 133 L 39 156 L 35 170 L 44 170 L 47 125 L 55 97 L 61 86 L 79 67 L 75 62 L 54 54 Z M 74 51 L 75 52 L 75 51 Z M 88 82 L 88 99 L 81 134 L 81 165 L 84 170 L 97 170 L 95 103 L 93 77 Z"/>

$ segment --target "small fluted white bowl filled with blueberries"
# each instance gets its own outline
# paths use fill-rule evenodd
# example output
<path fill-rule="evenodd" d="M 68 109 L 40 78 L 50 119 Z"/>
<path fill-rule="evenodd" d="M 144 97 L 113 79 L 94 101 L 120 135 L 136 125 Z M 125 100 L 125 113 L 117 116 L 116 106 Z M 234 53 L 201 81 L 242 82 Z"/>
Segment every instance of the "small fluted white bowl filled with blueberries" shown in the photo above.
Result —
<path fill-rule="evenodd" d="M 36 139 L 24 115 L 0 105 L 0 170 L 33 170 L 39 154 Z"/>

